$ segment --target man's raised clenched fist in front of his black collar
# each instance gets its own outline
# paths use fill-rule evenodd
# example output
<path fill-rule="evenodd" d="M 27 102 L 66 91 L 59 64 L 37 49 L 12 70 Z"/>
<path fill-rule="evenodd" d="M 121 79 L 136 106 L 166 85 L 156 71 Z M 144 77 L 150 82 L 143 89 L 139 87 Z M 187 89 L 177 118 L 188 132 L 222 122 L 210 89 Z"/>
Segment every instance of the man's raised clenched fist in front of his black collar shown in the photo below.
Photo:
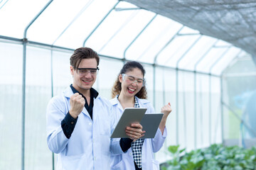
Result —
<path fill-rule="evenodd" d="M 82 108 L 85 106 L 85 98 L 82 95 L 75 93 L 70 96 L 70 115 L 73 118 L 78 118 L 78 115 L 82 112 Z"/>

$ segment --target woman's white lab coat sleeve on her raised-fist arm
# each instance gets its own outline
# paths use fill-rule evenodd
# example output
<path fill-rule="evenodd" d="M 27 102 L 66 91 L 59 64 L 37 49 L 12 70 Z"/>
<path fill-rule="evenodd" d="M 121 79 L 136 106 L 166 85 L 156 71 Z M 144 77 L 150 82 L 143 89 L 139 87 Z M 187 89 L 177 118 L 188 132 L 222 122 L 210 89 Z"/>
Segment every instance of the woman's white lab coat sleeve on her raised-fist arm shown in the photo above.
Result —
<path fill-rule="evenodd" d="M 149 113 L 155 113 L 154 107 L 151 106 L 151 104 L 148 110 L 149 110 Z M 151 139 L 152 149 L 154 153 L 158 152 L 161 149 L 161 147 L 164 145 L 164 140 L 166 139 L 166 136 L 167 136 L 166 128 L 164 128 L 163 135 L 161 134 L 161 130 L 159 128 L 157 129 L 155 137 Z"/>

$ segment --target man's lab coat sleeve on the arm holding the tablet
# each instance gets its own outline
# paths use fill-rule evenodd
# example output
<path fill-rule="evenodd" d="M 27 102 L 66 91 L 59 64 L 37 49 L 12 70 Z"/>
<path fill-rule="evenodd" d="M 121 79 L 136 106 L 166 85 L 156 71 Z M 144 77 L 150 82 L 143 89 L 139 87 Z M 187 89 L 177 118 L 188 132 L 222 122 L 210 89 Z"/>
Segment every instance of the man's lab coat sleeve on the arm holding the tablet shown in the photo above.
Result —
<path fill-rule="evenodd" d="M 111 111 L 110 111 L 111 115 L 111 134 L 114 131 L 114 128 L 116 127 L 117 123 L 118 123 L 118 118 L 117 118 L 117 113 L 116 110 L 111 107 Z M 111 143 L 110 143 L 110 151 L 113 155 L 117 155 L 117 154 L 123 154 L 124 152 L 122 151 L 122 148 L 120 146 L 120 139 L 121 138 L 111 138 Z"/>

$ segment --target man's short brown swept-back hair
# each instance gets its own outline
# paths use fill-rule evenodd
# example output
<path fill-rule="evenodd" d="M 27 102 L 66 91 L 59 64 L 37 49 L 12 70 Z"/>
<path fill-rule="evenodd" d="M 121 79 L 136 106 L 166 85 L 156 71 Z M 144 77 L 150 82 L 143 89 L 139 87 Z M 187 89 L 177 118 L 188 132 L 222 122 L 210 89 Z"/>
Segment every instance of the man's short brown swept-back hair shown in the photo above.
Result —
<path fill-rule="evenodd" d="M 97 52 L 92 50 L 90 47 L 80 47 L 76 49 L 70 57 L 70 65 L 74 69 L 78 69 L 78 66 L 82 59 L 91 59 L 95 58 L 97 61 L 97 66 L 99 65 L 100 62 L 100 57 L 97 55 Z"/>

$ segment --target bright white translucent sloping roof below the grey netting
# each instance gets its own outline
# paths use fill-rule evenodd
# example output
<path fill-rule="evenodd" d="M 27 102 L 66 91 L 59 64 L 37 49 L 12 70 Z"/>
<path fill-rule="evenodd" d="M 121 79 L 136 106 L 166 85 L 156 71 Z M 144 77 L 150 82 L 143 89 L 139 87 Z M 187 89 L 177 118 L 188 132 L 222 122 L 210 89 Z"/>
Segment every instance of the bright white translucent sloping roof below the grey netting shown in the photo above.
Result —
<path fill-rule="evenodd" d="M 85 45 L 100 55 L 202 72 L 209 72 L 218 57 L 233 58 L 224 54 L 230 43 L 117 0 L 0 0 L 0 38 L 22 39 L 41 11 L 28 28 L 28 42 L 70 49 Z"/>

